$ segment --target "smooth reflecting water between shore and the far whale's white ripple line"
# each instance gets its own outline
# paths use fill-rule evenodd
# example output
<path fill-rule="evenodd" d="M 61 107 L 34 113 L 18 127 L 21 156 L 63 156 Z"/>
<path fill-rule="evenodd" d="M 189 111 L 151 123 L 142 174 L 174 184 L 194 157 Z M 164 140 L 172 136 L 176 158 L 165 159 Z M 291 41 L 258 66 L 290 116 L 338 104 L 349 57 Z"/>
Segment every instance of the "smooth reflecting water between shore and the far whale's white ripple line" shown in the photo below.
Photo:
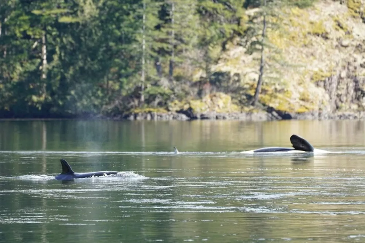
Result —
<path fill-rule="evenodd" d="M 364 121 L 0 121 L 0 150 L 242 151 L 291 146 L 298 134 L 316 148 L 365 146 Z M 345 148 L 346 149 L 346 148 Z"/>

